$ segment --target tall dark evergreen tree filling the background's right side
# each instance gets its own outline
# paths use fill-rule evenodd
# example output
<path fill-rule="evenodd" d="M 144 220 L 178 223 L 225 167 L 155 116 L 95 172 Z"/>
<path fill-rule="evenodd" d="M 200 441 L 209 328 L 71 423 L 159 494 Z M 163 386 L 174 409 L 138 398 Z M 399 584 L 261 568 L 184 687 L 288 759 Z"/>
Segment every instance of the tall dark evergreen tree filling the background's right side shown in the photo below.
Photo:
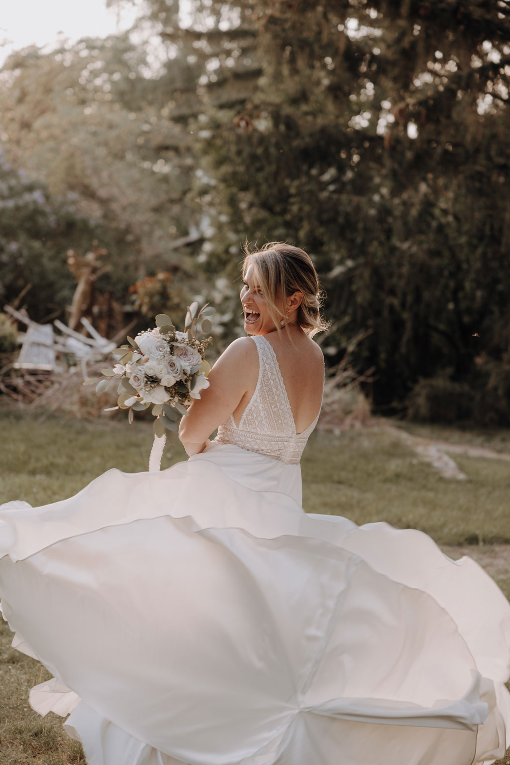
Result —
<path fill-rule="evenodd" d="M 211 262 L 229 269 L 232 221 L 252 241 L 295 241 L 329 294 L 333 358 L 371 331 L 356 362 L 375 366 L 376 405 L 434 418 L 442 389 L 460 400 L 442 416 L 510 422 L 510 4 L 242 7 L 264 68 L 242 106 L 208 111 L 203 151 L 229 213 Z"/>

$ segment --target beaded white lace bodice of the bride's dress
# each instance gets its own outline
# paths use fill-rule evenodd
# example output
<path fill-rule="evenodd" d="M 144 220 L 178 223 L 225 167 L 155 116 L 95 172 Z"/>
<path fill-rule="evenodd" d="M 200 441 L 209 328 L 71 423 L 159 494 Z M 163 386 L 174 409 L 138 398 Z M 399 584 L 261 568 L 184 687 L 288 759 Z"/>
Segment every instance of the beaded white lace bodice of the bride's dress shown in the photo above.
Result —
<path fill-rule="evenodd" d="M 273 347 L 264 335 L 251 338 L 258 350 L 258 380 L 239 427 L 233 415 L 218 428 L 215 441 L 235 444 L 287 464 L 298 464 L 319 414 L 302 433 L 296 432 L 294 416 Z"/>

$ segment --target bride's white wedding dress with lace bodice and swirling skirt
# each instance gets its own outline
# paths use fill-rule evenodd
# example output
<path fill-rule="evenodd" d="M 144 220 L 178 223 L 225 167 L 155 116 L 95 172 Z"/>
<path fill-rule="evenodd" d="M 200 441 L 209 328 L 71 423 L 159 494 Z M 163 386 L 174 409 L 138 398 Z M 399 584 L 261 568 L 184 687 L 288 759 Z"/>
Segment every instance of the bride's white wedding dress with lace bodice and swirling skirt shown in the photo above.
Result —
<path fill-rule="evenodd" d="M 271 344 L 202 454 L 0 509 L 15 646 L 89 765 L 473 765 L 510 744 L 510 606 L 421 532 L 300 506 Z"/>

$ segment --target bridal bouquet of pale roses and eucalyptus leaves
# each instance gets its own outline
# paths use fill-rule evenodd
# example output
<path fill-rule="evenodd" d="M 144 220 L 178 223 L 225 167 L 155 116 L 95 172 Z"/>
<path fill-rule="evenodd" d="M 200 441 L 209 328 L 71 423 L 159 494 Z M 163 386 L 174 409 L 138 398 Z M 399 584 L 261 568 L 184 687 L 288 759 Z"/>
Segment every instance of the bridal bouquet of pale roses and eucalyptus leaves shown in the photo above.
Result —
<path fill-rule="evenodd" d="M 102 377 L 83 384 L 95 382 L 100 393 L 116 378 L 117 406 L 106 412 L 128 409 L 131 424 L 134 412 L 152 405 L 154 435 L 161 438 L 166 430 L 177 431 L 180 418 L 187 415 L 187 406 L 193 399 L 200 399 L 200 391 L 209 386 L 205 349 L 212 337 L 197 340 L 197 332 L 210 332 L 207 317 L 214 310 L 206 305 L 198 311 L 198 303 L 193 302 L 187 309 L 184 332 L 175 329 L 167 314 L 158 314 L 154 329 L 128 337 L 128 344 L 112 351 L 119 356 L 112 369 L 102 369 Z"/>

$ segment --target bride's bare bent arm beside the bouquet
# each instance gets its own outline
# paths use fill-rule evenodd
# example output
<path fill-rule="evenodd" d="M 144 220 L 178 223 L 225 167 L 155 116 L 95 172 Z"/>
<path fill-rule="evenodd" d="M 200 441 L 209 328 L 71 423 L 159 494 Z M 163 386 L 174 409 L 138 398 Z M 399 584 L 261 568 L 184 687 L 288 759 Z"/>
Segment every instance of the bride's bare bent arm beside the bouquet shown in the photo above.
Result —
<path fill-rule="evenodd" d="M 200 392 L 180 421 L 179 438 L 189 457 L 199 454 L 218 425 L 234 412 L 258 376 L 258 353 L 249 337 L 230 343 L 209 375 L 209 388 Z"/>

